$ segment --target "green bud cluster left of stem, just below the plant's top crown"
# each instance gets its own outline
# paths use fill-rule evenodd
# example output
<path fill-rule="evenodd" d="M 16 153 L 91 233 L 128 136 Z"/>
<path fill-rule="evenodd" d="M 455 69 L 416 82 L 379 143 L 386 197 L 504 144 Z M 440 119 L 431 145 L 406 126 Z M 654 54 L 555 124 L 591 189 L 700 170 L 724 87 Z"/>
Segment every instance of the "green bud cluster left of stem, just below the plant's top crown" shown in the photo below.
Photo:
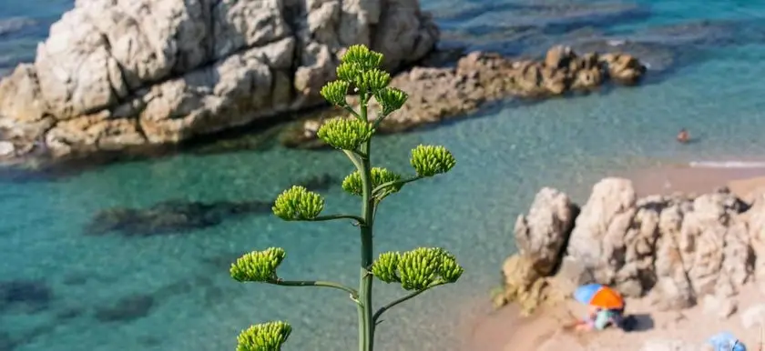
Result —
<path fill-rule="evenodd" d="M 369 122 L 342 117 L 324 122 L 316 133 L 324 143 L 341 150 L 358 149 L 372 134 L 374 128 Z"/>

